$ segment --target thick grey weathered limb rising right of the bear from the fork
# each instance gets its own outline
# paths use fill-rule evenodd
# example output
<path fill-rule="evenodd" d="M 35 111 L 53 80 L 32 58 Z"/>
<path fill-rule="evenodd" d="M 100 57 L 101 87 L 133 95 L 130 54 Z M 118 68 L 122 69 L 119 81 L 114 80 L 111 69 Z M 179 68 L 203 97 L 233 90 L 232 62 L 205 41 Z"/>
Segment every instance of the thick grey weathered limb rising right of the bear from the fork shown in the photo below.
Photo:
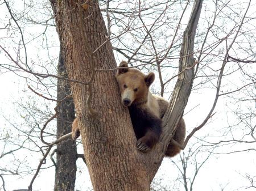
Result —
<path fill-rule="evenodd" d="M 193 78 L 194 78 L 194 66 L 195 59 L 193 58 L 194 50 L 194 39 L 197 28 L 197 23 L 199 22 L 202 0 L 195 1 L 193 6 L 191 16 L 188 22 L 188 26 L 183 33 L 183 43 L 180 50 L 180 60 L 179 60 L 179 73 L 174 92 L 172 92 L 172 99 L 167 108 L 166 114 L 163 117 L 163 133 L 160 137 L 160 142 L 163 143 L 157 152 L 158 158 L 155 159 L 155 163 L 160 163 L 164 157 L 164 153 L 167 149 L 168 144 L 175 132 L 175 128 L 182 116 L 185 105 L 187 104 L 188 97 L 190 95 Z M 190 69 L 186 69 L 190 68 Z M 160 153 L 159 153 L 160 152 Z M 156 155 L 154 153 L 154 155 Z M 159 166 L 155 165 L 154 169 L 150 171 L 150 180 L 153 179 L 155 172 Z M 152 172 L 152 173 L 151 173 Z"/>

